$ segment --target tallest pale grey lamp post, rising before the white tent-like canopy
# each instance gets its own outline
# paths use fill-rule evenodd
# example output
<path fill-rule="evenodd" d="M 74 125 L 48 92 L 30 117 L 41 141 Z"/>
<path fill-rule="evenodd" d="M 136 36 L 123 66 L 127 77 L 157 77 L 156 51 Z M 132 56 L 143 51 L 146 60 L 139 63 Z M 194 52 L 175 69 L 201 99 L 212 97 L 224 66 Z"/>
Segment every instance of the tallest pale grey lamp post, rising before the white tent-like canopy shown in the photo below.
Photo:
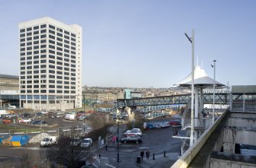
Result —
<path fill-rule="evenodd" d="M 189 37 L 185 33 L 186 38 L 190 41 L 192 44 L 192 86 L 191 86 L 191 132 L 190 132 L 190 147 L 194 143 L 194 41 L 195 41 L 195 36 L 194 36 L 194 30 L 192 30 L 192 37 Z"/>

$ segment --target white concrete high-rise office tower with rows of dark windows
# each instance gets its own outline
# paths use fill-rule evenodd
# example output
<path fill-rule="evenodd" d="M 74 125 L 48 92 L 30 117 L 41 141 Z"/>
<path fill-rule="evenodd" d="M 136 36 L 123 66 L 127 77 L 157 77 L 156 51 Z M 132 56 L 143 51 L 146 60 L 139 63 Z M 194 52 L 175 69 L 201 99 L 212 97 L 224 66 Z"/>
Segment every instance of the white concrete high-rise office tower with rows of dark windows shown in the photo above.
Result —
<path fill-rule="evenodd" d="M 18 28 L 21 106 L 82 107 L 82 27 L 43 17 Z"/>

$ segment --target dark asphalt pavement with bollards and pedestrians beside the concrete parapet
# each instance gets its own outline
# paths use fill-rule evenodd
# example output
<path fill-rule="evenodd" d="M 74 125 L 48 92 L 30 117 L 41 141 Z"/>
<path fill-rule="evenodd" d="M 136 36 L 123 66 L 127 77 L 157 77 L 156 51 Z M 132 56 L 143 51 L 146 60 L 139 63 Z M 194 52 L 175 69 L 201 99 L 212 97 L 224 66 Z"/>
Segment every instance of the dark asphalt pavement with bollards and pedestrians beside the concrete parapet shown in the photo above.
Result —
<path fill-rule="evenodd" d="M 96 167 L 118 168 L 170 167 L 178 159 L 182 144 L 180 139 L 172 138 L 172 135 L 173 128 L 150 130 L 142 136 L 141 144 L 120 144 L 119 150 L 117 144 L 112 144 L 112 141 L 109 141 L 107 151 L 105 147 L 101 151 L 96 151 L 93 164 Z M 150 151 L 148 160 L 145 157 L 147 149 Z M 138 163 L 137 157 L 141 154 L 141 151 L 144 151 L 144 158 L 141 163 Z"/>

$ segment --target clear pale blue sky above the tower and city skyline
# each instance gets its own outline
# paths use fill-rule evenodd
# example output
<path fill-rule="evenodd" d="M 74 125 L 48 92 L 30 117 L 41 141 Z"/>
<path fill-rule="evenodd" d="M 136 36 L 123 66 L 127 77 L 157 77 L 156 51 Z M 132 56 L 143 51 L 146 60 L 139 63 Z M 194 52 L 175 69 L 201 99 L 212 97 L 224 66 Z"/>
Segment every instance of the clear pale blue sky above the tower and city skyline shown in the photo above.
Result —
<path fill-rule="evenodd" d="M 170 87 L 191 71 L 195 56 L 213 78 L 256 84 L 256 1 L 31 0 L 0 2 L 0 74 L 19 71 L 18 24 L 53 17 L 83 27 L 83 84 Z M 196 58 L 195 58 L 196 64 Z"/>

